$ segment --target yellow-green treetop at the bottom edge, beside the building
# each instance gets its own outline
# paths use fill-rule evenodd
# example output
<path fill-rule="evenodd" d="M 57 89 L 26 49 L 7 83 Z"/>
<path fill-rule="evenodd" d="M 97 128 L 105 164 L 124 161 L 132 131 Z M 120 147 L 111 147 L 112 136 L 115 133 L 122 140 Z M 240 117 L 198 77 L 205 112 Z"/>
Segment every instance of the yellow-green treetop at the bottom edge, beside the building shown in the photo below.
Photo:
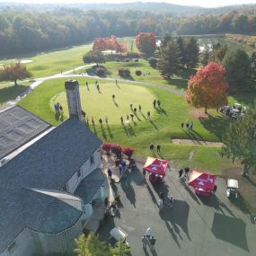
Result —
<path fill-rule="evenodd" d="M 84 234 L 75 239 L 75 250 L 77 256 L 110 256 L 109 248 L 105 242 L 101 242 L 93 233 Z"/>

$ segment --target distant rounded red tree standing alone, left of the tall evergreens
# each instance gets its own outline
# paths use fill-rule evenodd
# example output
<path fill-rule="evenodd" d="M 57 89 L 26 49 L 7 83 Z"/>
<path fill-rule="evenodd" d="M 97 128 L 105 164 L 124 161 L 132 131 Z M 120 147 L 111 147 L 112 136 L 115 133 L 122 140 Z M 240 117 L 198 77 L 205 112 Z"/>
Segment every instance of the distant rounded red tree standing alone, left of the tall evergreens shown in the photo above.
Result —
<path fill-rule="evenodd" d="M 140 32 L 136 37 L 137 49 L 146 55 L 152 55 L 155 50 L 154 33 Z"/>

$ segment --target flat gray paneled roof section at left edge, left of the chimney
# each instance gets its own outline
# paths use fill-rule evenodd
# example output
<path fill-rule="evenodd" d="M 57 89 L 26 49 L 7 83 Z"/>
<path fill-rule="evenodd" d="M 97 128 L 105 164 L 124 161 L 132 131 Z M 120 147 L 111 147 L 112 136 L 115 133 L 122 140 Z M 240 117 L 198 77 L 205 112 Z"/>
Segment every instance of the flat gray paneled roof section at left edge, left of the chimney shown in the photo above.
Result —
<path fill-rule="evenodd" d="M 0 159 L 50 128 L 49 123 L 15 106 L 0 113 Z"/>

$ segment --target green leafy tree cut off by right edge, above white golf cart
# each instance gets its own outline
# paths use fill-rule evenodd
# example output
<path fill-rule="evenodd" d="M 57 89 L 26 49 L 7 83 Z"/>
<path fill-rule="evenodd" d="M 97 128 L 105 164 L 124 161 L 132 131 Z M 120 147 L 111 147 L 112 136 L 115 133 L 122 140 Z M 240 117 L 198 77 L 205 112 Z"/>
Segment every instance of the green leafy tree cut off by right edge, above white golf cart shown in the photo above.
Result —
<path fill-rule="evenodd" d="M 256 166 L 256 102 L 242 118 L 230 123 L 223 137 L 221 154 L 243 164 L 243 175 Z"/>

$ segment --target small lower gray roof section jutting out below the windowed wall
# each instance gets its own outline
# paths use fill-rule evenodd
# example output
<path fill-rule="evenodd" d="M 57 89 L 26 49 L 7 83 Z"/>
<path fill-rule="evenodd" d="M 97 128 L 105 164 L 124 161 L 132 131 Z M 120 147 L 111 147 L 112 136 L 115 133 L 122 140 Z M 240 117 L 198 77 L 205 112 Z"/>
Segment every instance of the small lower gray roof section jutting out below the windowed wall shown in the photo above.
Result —
<path fill-rule="evenodd" d="M 80 182 L 75 190 L 75 195 L 83 199 L 84 204 L 87 204 L 93 199 L 93 196 L 101 188 L 104 181 L 102 170 L 97 168 Z"/>

